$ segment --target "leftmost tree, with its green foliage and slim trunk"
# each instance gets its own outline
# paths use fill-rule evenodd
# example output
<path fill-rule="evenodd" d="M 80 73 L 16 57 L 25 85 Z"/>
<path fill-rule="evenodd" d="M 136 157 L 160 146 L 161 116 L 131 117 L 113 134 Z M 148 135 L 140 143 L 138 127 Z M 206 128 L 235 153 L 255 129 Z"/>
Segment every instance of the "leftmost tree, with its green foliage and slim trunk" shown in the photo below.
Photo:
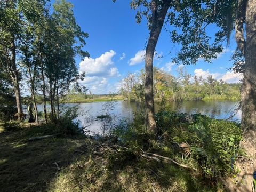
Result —
<path fill-rule="evenodd" d="M 18 118 L 22 119 L 23 111 L 20 95 L 20 73 L 17 67 L 17 54 L 24 22 L 21 19 L 17 1 L 0 2 L 0 51 L 2 55 L 3 69 L 10 75 L 14 87 L 17 103 Z"/>

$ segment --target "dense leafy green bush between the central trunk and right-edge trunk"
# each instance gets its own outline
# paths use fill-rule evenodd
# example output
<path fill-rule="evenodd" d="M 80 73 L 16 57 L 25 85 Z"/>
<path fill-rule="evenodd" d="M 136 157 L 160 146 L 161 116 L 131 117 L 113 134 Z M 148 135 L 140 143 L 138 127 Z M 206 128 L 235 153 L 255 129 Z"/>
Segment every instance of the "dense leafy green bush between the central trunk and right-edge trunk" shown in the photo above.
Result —
<path fill-rule="evenodd" d="M 242 132 L 239 125 L 205 115 L 156 114 L 157 125 L 166 133 L 166 145 L 177 143 L 208 178 L 226 177 L 235 173 Z"/>

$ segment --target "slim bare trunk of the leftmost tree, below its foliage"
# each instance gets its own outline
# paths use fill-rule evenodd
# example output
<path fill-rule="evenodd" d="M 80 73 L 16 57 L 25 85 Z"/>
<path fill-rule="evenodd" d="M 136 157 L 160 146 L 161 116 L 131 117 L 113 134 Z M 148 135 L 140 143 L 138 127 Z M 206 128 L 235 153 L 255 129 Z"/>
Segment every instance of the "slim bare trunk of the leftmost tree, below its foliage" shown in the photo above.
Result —
<path fill-rule="evenodd" d="M 21 95 L 20 95 L 20 84 L 19 84 L 19 73 L 16 66 L 16 47 L 14 43 L 14 38 L 11 42 L 11 74 L 12 74 L 12 82 L 14 86 L 15 98 L 17 103 L 17 110 L 18 110 L 18 119 L 22 121 L 23 119 L 23 110 L 21 104 Z"/>

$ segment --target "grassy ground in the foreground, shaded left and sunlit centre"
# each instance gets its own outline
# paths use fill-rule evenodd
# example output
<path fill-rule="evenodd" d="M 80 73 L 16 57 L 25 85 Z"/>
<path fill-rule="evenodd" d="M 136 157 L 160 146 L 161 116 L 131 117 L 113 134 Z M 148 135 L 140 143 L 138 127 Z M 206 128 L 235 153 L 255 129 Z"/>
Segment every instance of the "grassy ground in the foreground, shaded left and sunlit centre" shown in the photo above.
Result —
<path fill-rule="evenodd" d="M 1 191 L 217 191 L 199 173 L 108 150 L 106 140 L 80 135 L 29 142 L 35 135 L 43 135 L 41 126 L 0 128 Z"/>

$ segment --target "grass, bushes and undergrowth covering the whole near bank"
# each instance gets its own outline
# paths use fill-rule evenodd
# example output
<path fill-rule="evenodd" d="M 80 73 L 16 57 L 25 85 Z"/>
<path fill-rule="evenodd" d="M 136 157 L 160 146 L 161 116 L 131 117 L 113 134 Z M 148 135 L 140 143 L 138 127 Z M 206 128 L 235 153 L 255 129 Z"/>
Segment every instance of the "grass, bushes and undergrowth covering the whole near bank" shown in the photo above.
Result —
<path fill-rule="evenodd" d="M 81 134 L 76 111 L 63 110 L 53 123 L 13 123 L 13 131 L 0 132 L 3 191 L 225 191 L 221 179 L 237 172 L 237 123 L 161 110 L 155 115 L 159 136 L 150 140 L 140 111 L 133 122 L 123 119 L 95 140 Z M 55 137 L 28 142 L 47 134 Z M 148 152 L 197 171 L 141 156 Z"/>

